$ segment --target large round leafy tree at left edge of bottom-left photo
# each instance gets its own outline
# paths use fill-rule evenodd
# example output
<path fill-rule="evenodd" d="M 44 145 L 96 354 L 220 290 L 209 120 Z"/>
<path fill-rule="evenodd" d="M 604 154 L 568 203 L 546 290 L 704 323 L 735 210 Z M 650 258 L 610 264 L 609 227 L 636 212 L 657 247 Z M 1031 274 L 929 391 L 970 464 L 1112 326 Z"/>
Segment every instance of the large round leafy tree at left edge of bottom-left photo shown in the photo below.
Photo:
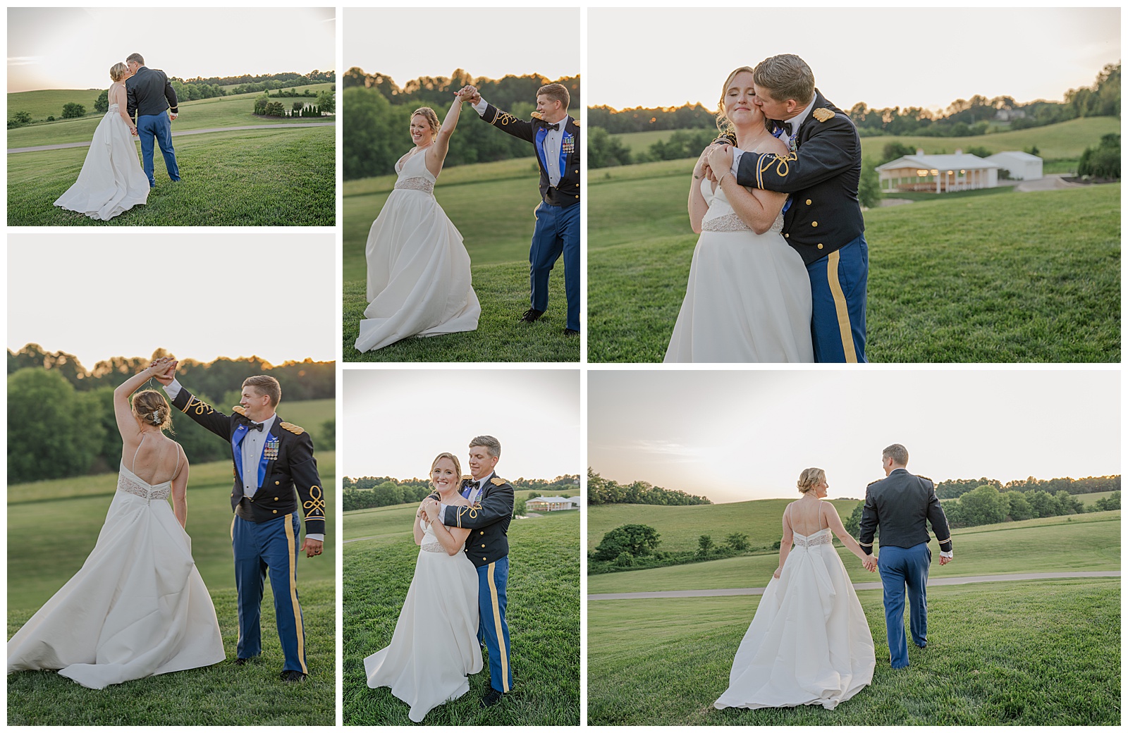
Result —
<path fill-rule="evenodd" d="M 8 480 L 82 474 L 103 448 L 98 399 L 59 372 L 21 369 L 8 377 Z"/>

